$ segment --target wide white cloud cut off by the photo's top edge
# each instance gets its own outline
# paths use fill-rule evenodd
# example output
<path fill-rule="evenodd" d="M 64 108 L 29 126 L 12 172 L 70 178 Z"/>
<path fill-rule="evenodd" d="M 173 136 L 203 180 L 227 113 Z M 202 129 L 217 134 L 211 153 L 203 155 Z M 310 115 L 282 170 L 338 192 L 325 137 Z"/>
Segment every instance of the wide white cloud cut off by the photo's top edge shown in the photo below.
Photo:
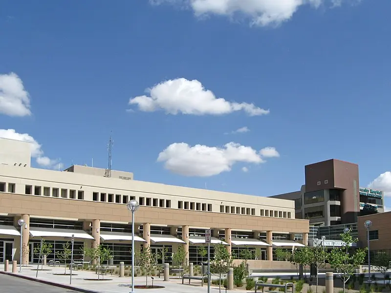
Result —
<path fill-rule="evenodd" d="M 279 25 L 292 18 L 300 6 L 308 5 L 319 8 L 322 4 L 331 7 L 340 6 L 343 2 L 354 3 L 361 0 L 150 0 L 150 3 L 171 4 L 176 7 L 189 8 L 195 16 L 242 15 L 250 19 L 251 25 Z"/>

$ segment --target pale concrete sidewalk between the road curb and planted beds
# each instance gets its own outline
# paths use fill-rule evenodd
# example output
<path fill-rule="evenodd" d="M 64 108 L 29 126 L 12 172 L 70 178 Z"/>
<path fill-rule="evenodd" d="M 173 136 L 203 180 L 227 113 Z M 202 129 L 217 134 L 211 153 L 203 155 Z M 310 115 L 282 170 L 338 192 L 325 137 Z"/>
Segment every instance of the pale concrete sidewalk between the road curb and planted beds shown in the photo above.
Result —
<path fill-rule="evenodd" d="M 95 279 L 98 278 L 98 275 L 95 274 L 95 272 L 90 271 L 73 271 L 75 275 L 72 275 L 72 285 L 69 285 L 69 275 L 68 276 L 62 276 L 62 275 L 56 275 L 64 273 L 64 267 L 48 267 L 43 266 L 43 271 L 38 272 L 38 278 L 36 278 L 37 271 L 34 271 L 37 269 L 37 266 L 29 266 L 29 267 L 22 267 L 22 272 L 19 273 L 19 267 L 17 273 L 12 273 L 12 265 L 9 266 L 9 271 L 6 272 L 9 275 L 13 275 L 15 277 L 22 277 L 25 279 L 30 279 L 34 281 L 38 281 L 41 283 L 51 284 L 55 286 L 59 286 L 62 288 L 84 292 L 84 293 L 129 293 L 130 292 L 130 283 L 131 283 L 131 277 L 123 277 L 120 278 L 118 276 L 111 276 L 111 275 L 104 275 L 105 279 L 111 279 L 107 281 L 87 281 L 85 279 Z M 46 270 L 46 271 L 45 271 Z M 47 271 L 49 270 L 49 271 Z M 0 269 L 1 273 L 4 272 L 4 267 L 2 266 Z M 69 270 L 66 270 L 67 273 L 69 273 Z M 102 275 L 100 276 L 102 278 Z M 207 292 L 207 286 L 201 287 L 201 282 L 198 280 L 192 280 L 191 288 L 185 282 L 185 285 L 182 285 L 181 279 L 170 279 L 169 282 L 164 282 L 163 278 L 159 277 L 153 277 L 153 285 L 159 285 L 164 286 L 165 288 L 162 289 L 148 289 L 148 292 L 156 292 L 156 293 L 189 293 L 189 290 L 194 293 L 206 293 Z M 134 285 L 145 285 L 146 277 L 135 277 L 134 278 Z M 152 279 L 151 277 L 148 277 L 148 285 L 152 285 Z M 216 292 L 216 289 L 218 290 L 218 287 L 211 287 L 212 292 Z M 142 289 L 139 289 L 142 290 Z M 139 291 L 138 290 L 138 291 Z M 218 292 L 218 291 L 217 291 Z"/>

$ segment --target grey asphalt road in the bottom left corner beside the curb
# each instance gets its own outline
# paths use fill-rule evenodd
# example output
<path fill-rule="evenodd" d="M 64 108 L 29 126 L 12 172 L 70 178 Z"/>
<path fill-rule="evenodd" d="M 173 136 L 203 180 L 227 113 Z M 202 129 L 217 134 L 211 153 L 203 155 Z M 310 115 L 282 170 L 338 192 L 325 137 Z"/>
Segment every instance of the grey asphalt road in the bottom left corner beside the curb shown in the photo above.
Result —
<path fill-rule="evenodd" d="M 1 293 L 76 293 L 59 287 L 54 287 L 22 278 L 0 274 Z"/>

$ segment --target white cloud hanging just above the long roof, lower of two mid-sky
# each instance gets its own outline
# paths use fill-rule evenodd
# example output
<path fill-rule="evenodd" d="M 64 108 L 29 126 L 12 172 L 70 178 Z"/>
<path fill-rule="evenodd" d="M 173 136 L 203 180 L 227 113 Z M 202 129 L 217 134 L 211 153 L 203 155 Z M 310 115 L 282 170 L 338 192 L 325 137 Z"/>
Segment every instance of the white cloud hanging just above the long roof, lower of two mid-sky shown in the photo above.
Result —
<path fill-rule="evenodd" d="M 257 151 L 233 142 L 223 147 L 174 143 L 160 152 L 157 161 L 164 162 L 164 167 L 176 174 L 207 177 L 230 171 L 239 162 L 264 163 L 262 152 L 264 149 Z"/>

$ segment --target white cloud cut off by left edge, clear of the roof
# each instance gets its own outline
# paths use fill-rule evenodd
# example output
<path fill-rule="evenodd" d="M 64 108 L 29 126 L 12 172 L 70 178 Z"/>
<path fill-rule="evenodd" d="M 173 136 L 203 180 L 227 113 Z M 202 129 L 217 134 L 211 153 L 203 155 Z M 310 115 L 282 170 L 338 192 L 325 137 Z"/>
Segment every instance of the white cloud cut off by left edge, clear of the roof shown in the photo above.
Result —
<path fill-rule="evenodd" d="M 30 98 L 18 75 L 0 74 L 0 114 L 29 116 Z"/>

